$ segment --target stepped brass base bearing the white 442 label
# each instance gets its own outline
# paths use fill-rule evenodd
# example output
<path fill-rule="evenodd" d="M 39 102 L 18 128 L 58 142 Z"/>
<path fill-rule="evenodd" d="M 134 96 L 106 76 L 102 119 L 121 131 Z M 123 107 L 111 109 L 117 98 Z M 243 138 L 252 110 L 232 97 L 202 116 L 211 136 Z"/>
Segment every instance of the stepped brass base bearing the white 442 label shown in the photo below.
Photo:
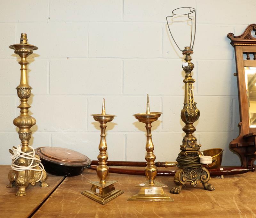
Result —
<path fill-rule="evenodd" d="M 148 182 L 144 183 L 145 186 L 140 186 L 140 191 L 138 194 L 133 195 L 128 200 L 133 201 L 173 201 L 173 199 L 164 193 L 163 187 L 167 187 L 162 183 L 154 181 L 151 185 Z"/>

